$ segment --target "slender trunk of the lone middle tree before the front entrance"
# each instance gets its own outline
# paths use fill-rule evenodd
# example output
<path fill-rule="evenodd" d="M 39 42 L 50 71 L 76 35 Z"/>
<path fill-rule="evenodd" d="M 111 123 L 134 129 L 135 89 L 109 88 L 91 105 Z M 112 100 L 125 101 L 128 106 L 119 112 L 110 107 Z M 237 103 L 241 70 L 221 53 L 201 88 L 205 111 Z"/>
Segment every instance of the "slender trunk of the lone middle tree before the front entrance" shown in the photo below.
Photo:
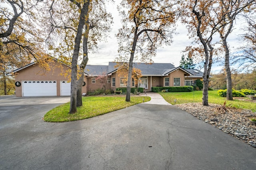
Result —
<path fill-rule="evenodd" d="M 129 70 L 128 70 L 128 79 L 127 79 L 127 89 L 126 89 L 126 102 L 130 102 L 130 94 L 131 94 L 131 80 L 132 80 L 132 63 L 133 63 L 133 58 L 134 58 L 134 53 L 136 49 L 136 43 L 138 39 L 138 27 L 136 27 L 135 32 L 134 32 L 134 39 L 132 43 L 132 51 L 131 51 L 131 56 L 129 60 Z"/>

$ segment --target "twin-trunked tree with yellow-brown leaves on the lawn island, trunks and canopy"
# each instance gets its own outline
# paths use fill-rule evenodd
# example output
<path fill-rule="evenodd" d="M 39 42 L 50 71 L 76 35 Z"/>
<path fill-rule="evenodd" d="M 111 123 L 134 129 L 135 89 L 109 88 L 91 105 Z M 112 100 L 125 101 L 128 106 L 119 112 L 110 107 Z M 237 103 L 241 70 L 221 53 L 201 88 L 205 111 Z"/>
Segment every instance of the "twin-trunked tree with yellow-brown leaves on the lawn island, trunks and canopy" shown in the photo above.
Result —
<path fill-rule="evenodd" d="M 71 63 L 70 112 L 82 106 L 82 84 L 84 68 L 88 62 L 89 50 L 97 46 L 97 41 L 106 37 L 112 23 L 106 12 L 104 0 L 53 0 L 48 4 L 46 16 L 49 32 L 49 49 L 62 61 Z M 58 35 L 58 46 L 54 35 Z M 82 43 L 81 43 L 82 42 Z M 81 64 L 78 66 L 78 61 Z"/>

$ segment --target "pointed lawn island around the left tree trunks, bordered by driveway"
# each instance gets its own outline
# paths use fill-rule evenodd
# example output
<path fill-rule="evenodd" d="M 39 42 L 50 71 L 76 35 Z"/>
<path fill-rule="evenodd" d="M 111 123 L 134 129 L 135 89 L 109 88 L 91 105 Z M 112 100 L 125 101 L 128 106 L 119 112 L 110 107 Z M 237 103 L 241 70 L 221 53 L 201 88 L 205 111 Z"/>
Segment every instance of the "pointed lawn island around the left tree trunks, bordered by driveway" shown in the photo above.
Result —
<path fill-rule="evenodd" d="M 125 101 L 125 97 L 116 96 L 88 96 L 83 97 L 83 106 L 77 108 L 77 113 L 69 114 L 70 102 L 62 104 L 48 111 L 44 115 L 44 121 L 66 122 L 88 119 L 98 115 L 103 115 L 112 111 L 123 109 L 135 104 L 150 101 L 150 97 L 131 96 L 130 102 Z"/>

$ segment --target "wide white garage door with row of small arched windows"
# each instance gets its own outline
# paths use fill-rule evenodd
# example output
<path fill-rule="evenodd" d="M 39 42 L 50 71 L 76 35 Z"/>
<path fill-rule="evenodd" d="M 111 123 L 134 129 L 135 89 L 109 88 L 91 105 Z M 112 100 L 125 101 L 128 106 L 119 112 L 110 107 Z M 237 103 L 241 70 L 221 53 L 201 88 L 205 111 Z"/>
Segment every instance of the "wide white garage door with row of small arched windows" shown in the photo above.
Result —
<path fill-rule="evenodd" d="M 57 96 L 56 81 L 22 81 L 23 96 Z"/>

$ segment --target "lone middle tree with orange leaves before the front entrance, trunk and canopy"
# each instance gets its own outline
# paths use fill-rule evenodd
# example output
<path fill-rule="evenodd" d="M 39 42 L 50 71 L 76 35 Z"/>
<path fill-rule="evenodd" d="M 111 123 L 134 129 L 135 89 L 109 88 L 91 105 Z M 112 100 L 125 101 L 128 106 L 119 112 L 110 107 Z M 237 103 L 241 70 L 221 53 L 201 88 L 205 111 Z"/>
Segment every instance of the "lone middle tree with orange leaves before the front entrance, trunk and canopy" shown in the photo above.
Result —
<path fill-rule="evenodd" d="M 134 59 L 151 63 L 158 47 L 170 45 L 177 4 L 176 0 L 122 0 L 120 3 L 118 10 L 123 26 L 116 36 L 120 61 L 129 62 L 126 102 L 130 101 Z"/>

